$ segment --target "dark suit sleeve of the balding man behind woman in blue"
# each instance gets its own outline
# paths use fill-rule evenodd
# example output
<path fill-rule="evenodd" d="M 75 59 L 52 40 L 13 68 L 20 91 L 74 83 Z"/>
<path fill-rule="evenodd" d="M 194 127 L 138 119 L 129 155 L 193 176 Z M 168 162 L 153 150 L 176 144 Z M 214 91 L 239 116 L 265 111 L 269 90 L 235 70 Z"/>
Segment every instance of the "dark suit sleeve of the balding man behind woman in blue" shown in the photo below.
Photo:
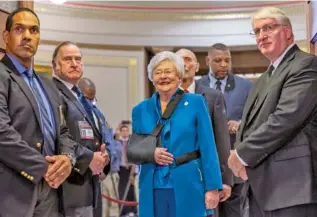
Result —
<path fill-rule="evenodd" d="M 215 99 L 215 103 L 212 107 L 212 113 L 210 114 L 212 119 L 215 141 L 220 160 L 220 168 L 222 173 L 222 182 L 229 186 L 233 185 L 233 174 L 228 167 L 228 158 L 230 155 L 230 138 L 228 131 L 227 118 L 225 113 L 225 101 L 221 93 L 218 94 Z"/>

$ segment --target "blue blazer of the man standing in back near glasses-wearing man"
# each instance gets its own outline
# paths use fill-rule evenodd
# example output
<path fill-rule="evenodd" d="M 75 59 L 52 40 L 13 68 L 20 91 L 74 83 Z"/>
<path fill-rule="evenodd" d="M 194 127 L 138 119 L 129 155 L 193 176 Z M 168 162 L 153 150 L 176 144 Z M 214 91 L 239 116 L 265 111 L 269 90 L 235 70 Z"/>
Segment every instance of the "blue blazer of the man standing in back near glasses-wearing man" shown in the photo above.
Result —
<path fill-rule="evenodd" d="M 208 75 L 204 75 L 197 83 L 210 87 L 210 79 Z M 240 121 L 242 113 L 252 87 L 252 82 L 241 78 L 237 75 L 229 74 L 225 87 L 224 98 L 227 108 L 227 119 Z M 233 149 L 236 136 L 230 136 L 231 148 Z"/>

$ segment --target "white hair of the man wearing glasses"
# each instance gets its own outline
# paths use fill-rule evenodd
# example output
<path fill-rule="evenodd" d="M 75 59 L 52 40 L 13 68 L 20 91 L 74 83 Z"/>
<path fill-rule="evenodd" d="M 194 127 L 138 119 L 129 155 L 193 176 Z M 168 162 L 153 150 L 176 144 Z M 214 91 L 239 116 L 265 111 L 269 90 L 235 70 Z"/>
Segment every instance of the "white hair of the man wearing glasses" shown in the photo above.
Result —
<path fill-rule="evenodd" d="M 285 14 L 283 10 L 276 7 L 264 7 L 259 9 L 253 14 L 251 23 L 253 25 L 254 20 L 267 18 L 275 19 L 279 24 L 287 25 L 290 28 L 292 28 L 292 24 L 289 17 Z"/>

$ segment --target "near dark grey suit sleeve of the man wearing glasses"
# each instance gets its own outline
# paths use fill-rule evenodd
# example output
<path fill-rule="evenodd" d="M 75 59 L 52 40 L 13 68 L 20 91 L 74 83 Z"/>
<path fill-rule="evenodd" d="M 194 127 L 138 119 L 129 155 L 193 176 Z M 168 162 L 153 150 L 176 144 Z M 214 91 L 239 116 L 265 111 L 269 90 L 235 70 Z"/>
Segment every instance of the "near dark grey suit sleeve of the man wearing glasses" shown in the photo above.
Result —
<path fill-rule="evenodd" d="M 238 155 L 250 167 L 287 144 L 312 118 L 317 106 L 317 58 L 307 58 L 299 67 L 299 72 L 290 73 L 285 81 L 275 112 L 237 144 Z"/>

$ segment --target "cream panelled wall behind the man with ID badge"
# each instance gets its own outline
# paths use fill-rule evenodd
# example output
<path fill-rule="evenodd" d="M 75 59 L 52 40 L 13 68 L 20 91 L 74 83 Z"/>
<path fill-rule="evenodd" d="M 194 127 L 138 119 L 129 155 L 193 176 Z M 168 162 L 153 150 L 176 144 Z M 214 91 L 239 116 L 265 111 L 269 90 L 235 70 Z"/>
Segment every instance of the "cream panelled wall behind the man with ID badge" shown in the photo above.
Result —
<path fill-rule="evenodd" d="M 40 45 L 36 65 L 50 66 L 54 46 Z M 131 119 L 131 109 L 144 99 L 144 51 L 81 49 L 84 76 L 97 88 L 98 105 L 112 127 Z"/>

